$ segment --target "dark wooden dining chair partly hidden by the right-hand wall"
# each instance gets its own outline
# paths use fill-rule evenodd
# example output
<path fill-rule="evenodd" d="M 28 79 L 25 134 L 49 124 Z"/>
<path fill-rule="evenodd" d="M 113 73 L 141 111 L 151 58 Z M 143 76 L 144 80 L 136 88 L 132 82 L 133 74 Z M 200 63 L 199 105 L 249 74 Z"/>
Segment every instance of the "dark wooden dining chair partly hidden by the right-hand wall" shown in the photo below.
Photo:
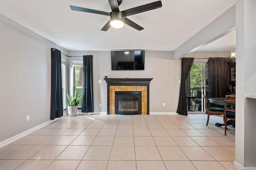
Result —
<path fill-rule="evenodd" d="M 225 125 L 225 135 L 227 131 L 227 120 L 236 120 L 236 109 L 234 106 L 236 104 L 236 99 L 233 100 L 224 100 L 224 125 Z"/>

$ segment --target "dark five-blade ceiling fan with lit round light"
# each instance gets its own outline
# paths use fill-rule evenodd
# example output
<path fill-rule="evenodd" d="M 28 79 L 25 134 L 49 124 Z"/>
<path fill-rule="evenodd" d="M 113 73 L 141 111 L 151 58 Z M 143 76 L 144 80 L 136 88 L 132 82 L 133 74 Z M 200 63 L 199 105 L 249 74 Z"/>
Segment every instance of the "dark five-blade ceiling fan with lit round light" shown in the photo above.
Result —
<path fill-rule="evenodd" d="M 145 4 L 142 6 L 137 6 L 135 8 L 130 8 L 128 10 L 120 11 L 118 6 L 120 6 L 120 4 L 122 3 L 122 0 L 108 0 L 108 2 L 110 4 L 112 12 L 92 10 L 88 8 L 78 7 L 78 6 L 70 6 L 70 8 L 71 10 L 74 10 L 74 11 L 89 12 L 94 14 L 110 16 L 110 20 L 101 29 L 102 31 L 107 31 L 111 26 L 114 28 L 121 28 L 122 26 L 124 26 L 124 24 L 127 24 L 128 26 L 131 26 L 132 28 L 135 28 L 136 30 L 140 31 L 140 30 L 143 30 L 144 28 L 142 28 L 141 26 L 139 26 L 138 24 L 129 20 L 126 17 L 162 7 L 162 2 L 159 0 L 159 1 Z"/>

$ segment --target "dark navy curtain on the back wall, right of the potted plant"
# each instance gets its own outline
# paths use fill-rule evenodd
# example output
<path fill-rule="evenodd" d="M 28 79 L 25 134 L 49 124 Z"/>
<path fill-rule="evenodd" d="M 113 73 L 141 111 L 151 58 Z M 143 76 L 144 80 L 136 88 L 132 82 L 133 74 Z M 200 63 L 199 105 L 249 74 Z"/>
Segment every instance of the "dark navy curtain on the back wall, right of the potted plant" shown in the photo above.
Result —
<path fill-rule="evenodd" d="M 82 112 L 93 112 L 92 55 L 83 56 L 83 101 Z"/>

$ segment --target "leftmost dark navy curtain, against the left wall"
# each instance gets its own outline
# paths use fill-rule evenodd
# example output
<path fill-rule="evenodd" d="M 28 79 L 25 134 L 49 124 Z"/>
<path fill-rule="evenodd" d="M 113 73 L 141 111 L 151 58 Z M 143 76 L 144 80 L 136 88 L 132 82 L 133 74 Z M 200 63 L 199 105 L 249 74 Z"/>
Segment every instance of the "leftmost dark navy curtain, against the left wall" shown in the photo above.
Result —
<path fill-rule="evenodd" d="M 51 120 L 63 116 L 62 105 L 62 77 L 61 77 L 61 52 L 58 49 L 52 51 L 52 75 L 51 75 Z"/>

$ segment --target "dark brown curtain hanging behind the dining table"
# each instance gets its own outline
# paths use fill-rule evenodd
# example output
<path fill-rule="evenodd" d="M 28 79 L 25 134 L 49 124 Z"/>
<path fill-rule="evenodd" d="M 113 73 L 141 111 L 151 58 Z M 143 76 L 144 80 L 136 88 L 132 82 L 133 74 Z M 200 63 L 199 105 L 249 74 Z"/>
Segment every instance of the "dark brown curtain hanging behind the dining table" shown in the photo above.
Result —
<path fill-rule="evenodd" d="M 225 97 L 230 80 L 230 58 L 208 58 L 207 95 L 210 97 Z"/>

